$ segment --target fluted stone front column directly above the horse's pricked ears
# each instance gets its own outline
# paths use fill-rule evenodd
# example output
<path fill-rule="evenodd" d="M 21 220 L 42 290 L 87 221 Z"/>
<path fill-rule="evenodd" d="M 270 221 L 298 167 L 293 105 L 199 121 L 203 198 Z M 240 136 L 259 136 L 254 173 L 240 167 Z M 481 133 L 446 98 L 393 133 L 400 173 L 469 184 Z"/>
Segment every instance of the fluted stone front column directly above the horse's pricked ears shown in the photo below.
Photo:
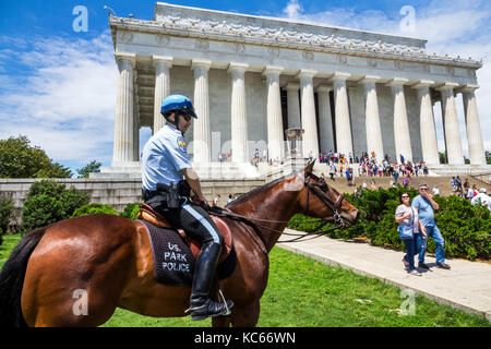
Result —
<path fill-rule="evenodd" d="M 318 121 L 315 118 L 315 100 L 313 95 L 312 79 L 316 74 L 313 70 L 301 70 L 300 93 L 302 110 L 302 129 L 304 130 L 302 144 L 303 157 L 308 157 L 310 152 L 314 159 L 319 158 Z"/>

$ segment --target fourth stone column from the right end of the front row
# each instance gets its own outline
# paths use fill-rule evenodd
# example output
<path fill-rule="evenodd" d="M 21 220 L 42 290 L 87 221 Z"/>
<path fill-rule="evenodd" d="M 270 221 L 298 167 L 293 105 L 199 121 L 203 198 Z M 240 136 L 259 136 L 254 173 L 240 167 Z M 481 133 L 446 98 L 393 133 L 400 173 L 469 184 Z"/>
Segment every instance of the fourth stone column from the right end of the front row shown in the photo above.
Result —
<path fill-rule="evenodd" d="M 405 161 L 412 163 L 411 139 L 409 135 L 409 122 L 407 120 L 406 98 L 404 97 L 404 84 L 407 79 L 393 79 L 387 86 L 392 89 L 394 106 L 394 140 L 397 164 L 400 164 L 400 154 Z"/>

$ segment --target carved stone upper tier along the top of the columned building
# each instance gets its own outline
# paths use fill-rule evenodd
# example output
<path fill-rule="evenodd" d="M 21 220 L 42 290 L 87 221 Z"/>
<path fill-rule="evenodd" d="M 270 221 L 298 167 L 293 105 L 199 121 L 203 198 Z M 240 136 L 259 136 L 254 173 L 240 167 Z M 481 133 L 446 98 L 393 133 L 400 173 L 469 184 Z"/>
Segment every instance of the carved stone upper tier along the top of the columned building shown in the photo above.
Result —
<path fill-rule="evenodd" d="M 295 22 L 278 22 L 266 17 L 217 13 L 207 10 L 179 8 L 165 3 L 156 5 L 155 20 L 110 17 L 110 25 L 146 26 L 182 32 L 184 36 L 228 37 L 261 45 L 287 46 L 290 48 L 346 50 L 349 53 L 396 55 L 423 60 L 469 63 L 482 67 L 482 61 L 450 56 L 430 56 L 423 40 L 400 40 L 383 34 L 364 35 L 354 31 L 324 25 L 299 25 Z M 354 35 L 355 34 L 355 35 Z M 132 39 L 132 38 L 131 38 Z"/>

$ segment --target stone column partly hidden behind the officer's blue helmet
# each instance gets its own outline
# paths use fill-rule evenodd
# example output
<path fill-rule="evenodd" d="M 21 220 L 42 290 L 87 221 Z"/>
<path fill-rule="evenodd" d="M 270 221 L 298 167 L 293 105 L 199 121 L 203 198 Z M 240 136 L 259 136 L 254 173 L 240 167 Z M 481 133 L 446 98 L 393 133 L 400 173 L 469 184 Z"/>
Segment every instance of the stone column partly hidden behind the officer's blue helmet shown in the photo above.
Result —
<path fill-rule="evenodd" d="M 154 133 L 157 133 L 166 120 L 160 113 L 161 101 L 170 94 L 169 69 L 172 67 L 172 57 L 152 56 L 155 69 L 155 94 L 154 94 Z"/>

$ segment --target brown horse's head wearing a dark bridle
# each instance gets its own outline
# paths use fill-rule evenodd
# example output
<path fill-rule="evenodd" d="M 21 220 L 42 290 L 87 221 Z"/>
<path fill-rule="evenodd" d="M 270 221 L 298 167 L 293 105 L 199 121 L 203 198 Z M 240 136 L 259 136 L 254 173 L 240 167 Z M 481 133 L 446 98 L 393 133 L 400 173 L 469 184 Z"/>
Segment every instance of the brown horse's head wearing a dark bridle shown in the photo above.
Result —
<path fill-rule="evenodd" d="M 354 225 L 359 212 L 343 194 L 328 185 L 323 178 L 313 174 L 314 161 L 307 165 L 303 173 L 297 174 L 297 181 L 303 181 L 298 195 L 298 204 L 303 213 L 316 218 L 332 218 L 337 222 Z"/>

